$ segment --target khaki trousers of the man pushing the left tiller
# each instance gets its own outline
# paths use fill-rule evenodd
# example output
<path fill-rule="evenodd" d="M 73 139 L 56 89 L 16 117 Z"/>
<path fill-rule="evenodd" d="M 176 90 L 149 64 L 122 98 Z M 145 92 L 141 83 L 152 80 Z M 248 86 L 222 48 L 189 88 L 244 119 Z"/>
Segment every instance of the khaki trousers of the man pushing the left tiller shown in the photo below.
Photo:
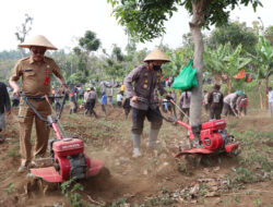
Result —
<path fill-rule="evenodd" d="M 49 104 L 46 100 L 29 100 L 34 108 L 40 113 L 44 119 L 51 113 Z M 36 138 L 34 155 L 32 155 L 32 126 L 35 120 Z M 28 105 L 21 100 L 19 109 L 19 123 L 20 123 L 20 153 L 21 166 L 28 166 L 33 157 L 44 156 L 47 150 L 50 129 L 43 122 Z"/>

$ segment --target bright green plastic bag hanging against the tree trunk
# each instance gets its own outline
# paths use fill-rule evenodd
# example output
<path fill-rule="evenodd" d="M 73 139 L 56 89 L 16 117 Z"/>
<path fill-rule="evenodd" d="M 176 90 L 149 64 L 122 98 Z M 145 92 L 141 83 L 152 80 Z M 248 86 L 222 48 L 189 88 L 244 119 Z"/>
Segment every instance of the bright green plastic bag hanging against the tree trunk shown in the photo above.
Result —
<path fill-rule="evenodd" d="M 187 66 L 175 77 L 175 82 L 171 85 L 174 89 L 180 89 L 181 92 L 191 90 L 192 87 L 198 86 L 198 80 L 195 76 L 197 69 L 192 69 L 193 61 L 191 60 Z"/>

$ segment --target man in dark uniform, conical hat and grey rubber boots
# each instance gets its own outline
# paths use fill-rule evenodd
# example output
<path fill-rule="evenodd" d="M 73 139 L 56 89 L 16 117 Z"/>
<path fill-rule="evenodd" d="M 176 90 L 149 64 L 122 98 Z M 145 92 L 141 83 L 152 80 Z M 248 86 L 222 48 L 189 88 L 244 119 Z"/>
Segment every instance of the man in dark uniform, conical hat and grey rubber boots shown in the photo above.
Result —
<path fill-rule="evenodd" d="M 155 88 L 158 88 L 162 96 L 166 94 L 161 85 L 161 65 L 169 61 L 161 50 L 155 49 L 144 59 L 146 64 L 135 68 L 124 78 L 127 98 L 131 98 L 130 105 L 132 107 L 133 157 L 141 156 L 140 137 L 145 118 L 151 122 L 149 147 L 156 148 L 156 139 L 163 119 L 157 105 L 149 105 L 147 102 L 153 102 Z M 140 98 L 146 102 L 140 101 Z"/>

